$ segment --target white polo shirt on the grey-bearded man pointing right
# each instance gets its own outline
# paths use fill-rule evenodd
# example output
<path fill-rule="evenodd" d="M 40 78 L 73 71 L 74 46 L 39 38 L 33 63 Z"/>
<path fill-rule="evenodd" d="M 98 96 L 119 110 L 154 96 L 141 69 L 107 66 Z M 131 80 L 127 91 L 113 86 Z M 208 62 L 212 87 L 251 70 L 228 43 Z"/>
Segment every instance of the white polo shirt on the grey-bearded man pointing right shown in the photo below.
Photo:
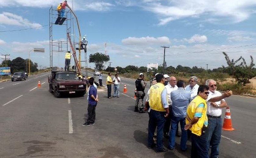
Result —
<path fill-rule="evenodd" d="M 211 116 L 221 116 L 221 113 L 222 113 L 222 108 L 215 108 L 211 105 L 211 102 L 208 101 L 210 100 L 211 98 L 214 98 L 214 97 L 219 97 L 221 96 L 221 92 L 219 91 L 215 91 L 214 93 L 209 91 L 209 95 L 208 95 L 208 98 L 206 99 L 207 101 L 207 115 L 211 115 Z M 222 101 L 225 101 L 224 99 L 222 99 Z M 215 102 L 217 105 L 220 105 L 221 101 L 217 101 Z"/>

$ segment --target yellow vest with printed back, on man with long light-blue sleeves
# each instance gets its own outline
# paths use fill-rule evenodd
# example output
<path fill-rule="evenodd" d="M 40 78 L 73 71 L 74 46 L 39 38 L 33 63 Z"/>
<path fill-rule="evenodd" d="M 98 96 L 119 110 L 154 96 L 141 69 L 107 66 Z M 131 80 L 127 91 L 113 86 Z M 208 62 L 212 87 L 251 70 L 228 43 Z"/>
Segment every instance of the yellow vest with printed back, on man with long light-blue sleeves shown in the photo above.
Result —
<path fill-rule="evenodd" d="M 165 109 L 162 105 L 161 93 L 164 90 L 165 85 L 157 83 L 149 89 L 149 106 L 155 111 L 164 112 Z M 166 101 L 168 100 L 166 95 Z"/>

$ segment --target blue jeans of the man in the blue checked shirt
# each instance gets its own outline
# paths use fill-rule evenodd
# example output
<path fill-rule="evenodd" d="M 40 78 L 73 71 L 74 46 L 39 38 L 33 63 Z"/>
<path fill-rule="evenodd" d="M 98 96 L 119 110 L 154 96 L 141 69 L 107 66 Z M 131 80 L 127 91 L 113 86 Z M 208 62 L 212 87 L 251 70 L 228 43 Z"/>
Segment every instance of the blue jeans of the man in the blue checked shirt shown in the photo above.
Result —
<path fill-rule="evenodd" d="M 180 139 L 180 148 L 181 150 L 186 150 L 187 149 L 187 131 L 184 129 L 184 126 L 186 125 L 186 120 L 185 118 L 182 117 L 176 117 L 172 116 L 172 124 L 171 124 L 171 130 L 169 133 L 169 148 L 173 149 L 175 147 L 175 134 L 176 134 L 176 129 L 178 128 L 178 124 L 180 122 L 180 127 L 181 127 L 181 139 Z"/>

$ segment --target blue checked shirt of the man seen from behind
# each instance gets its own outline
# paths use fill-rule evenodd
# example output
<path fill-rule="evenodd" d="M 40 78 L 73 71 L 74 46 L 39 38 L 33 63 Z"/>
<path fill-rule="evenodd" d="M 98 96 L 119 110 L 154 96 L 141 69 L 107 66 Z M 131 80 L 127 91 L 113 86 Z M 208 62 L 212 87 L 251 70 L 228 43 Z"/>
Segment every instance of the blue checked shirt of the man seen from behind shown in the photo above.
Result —
<path fill-rule="evenodd" d="M 188 104 L 192 100 L 190 92 L 186 91 L 184 88 L 178 88 L 177 90 L 171 92 L 171 100 L 172 114 L 175 117 L 185 118 Z"/>

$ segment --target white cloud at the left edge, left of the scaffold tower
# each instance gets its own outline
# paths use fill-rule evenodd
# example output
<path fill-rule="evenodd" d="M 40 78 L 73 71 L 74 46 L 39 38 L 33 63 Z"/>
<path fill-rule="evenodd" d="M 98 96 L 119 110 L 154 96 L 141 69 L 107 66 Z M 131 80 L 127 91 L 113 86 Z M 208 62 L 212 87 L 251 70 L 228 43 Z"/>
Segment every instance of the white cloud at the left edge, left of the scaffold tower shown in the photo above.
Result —
<path fill-rule="evenodd" d="M 38 23 L 30 22 L 28 19 L 23 19 L 22 16 L 15 15 L 9 12 L 0 14 L 0 24 L 27 26 L 27 27 L 40 27 Z"/>

